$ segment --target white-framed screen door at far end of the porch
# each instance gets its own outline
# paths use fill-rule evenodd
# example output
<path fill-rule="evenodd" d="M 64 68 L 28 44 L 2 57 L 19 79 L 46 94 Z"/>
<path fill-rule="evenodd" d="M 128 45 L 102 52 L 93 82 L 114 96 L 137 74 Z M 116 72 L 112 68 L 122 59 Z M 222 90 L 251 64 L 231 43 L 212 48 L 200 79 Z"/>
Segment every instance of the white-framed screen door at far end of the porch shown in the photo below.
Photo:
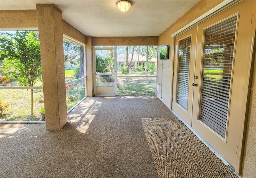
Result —
<path fill-rule="evenodd" d="M 94 48 L 94 93 L 116 95 L 116 48 Z"/>

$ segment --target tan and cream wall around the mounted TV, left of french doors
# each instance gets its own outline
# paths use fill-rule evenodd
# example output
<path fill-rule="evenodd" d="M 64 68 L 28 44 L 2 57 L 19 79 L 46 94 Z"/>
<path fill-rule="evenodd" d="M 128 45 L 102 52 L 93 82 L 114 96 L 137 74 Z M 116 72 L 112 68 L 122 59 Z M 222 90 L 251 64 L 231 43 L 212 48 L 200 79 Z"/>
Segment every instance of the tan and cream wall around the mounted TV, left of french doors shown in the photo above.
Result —
<path fill-rule="evenodd" d="M 158 45 L 170 45 L 170 57 L 169 59 L 158 61 L 158 86 L 156 95 L 169 109 L 171 109 L 172 99 L 172 68 L 174 57 L 174 38 L 171 36 L 173 33 L 180 30 L 182 27 L 186 26 L 196 18 L 200 17 L 202 14 L 208 12 L 210 9 L 214 8 L 221 2 L 222 1 L 220 0 L 202 0 L 198 2 L 194 7 L 192 7 L 188 12 L 186 12 L 186 14 L 184 14 L 158 37 Z M 160 86 L 159 83 L 161 83 Z"/>

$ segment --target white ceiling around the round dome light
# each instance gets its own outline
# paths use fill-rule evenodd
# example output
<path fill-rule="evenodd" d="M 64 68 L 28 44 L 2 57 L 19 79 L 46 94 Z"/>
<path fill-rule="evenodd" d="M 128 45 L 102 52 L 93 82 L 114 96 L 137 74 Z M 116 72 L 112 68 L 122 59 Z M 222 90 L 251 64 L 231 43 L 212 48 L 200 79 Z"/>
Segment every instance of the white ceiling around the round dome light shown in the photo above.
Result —
<path fill-rule="evenodd" d="M 159 36 L 199 0 L 130 0 L 121 12 L 119 0 L 0 0 L 0 10 L 36 9 L 53 3 L 63 19 L 88 36 Z"/>

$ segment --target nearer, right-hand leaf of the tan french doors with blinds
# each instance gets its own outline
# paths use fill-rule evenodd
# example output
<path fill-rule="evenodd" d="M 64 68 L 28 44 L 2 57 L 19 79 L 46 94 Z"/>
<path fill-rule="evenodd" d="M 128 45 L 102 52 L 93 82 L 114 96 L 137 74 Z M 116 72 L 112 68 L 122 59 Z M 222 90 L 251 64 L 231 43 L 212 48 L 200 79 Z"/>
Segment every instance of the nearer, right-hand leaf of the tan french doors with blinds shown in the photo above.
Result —
<path fill-rule="evenodd" d="M 241 4 L 198 25 L 197 43 L 202 46 L 197 46 L 198 87 L 194 87 L 192 111 L 194 131 L 235 169 L 242 152 L 247 97 L 243 88 L 248 86 L 252 59 L 251 49 L 245 46 L 251 47 L 249 39 L 253 36 L 252 14 L 246 13 L 253 10 L 250 3 Z M 215 54 L 207 58 L 214 50 Z"/>

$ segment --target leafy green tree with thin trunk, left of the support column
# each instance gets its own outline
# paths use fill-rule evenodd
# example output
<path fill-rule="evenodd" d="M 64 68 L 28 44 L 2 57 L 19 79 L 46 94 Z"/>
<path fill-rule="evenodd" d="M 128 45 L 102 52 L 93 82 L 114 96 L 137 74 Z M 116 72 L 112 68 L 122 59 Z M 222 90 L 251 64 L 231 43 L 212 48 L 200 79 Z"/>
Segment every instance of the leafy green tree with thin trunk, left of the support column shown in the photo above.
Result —
<path fill-rule="evenodd" d="M 0 61 L 9 77 L 18 79 L 20 86 L 33 87 L 42 81 L 42 67 L 38 33 L 16 31 L 15 34 L 0 33 Z M 31 89 L 31 115 L 33 115 L 34 90 Z"/>

